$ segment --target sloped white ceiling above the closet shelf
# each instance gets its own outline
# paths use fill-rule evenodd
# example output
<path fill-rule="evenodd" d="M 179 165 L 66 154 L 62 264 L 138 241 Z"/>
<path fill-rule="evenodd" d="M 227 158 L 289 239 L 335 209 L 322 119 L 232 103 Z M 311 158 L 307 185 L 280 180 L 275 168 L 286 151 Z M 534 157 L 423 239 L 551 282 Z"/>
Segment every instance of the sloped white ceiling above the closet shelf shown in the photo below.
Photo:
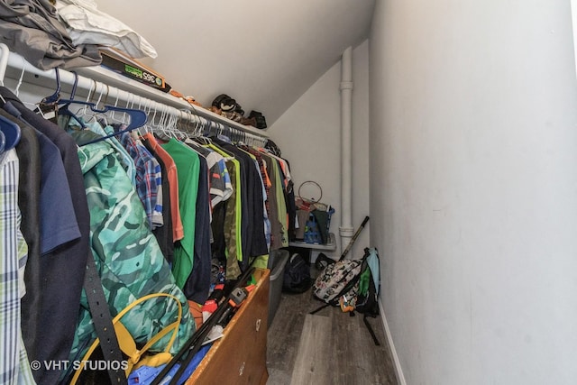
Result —
<path fill-rule="evenodd" d="M 227 94 L 270 125 L 345 48 L 368 38 L 374 0 L 96 0 L 158 52 L 142 60 L 209 106 Z M 338 86 L 335 86 L 338 87 Z"/>

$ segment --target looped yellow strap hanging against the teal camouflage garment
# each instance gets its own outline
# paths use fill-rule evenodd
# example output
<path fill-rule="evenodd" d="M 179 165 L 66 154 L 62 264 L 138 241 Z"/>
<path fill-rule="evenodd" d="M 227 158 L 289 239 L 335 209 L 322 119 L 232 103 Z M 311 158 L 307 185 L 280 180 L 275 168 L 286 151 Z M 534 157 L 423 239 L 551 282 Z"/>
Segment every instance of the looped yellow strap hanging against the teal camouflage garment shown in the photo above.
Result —
<path fill-rule="evenodd" d="M 172 324 L 170 324 L 170 325 L 164 327 L 162 330 L 160 330 L 160 332 L 157 333 L 156 335 L 154 335 L 151 338 L 151 340 L 147 344 L 145 344 L 144 347 L 139 351 L 136 349 L 136 344 L 134 343 L 133 336 L 130 335 L 130 333 L 128 332 L 126 327 L 120 322 L 120 319 L 126 313 L 128 313 L 128 311 L 133 309 L 133 307 L 136 307 L 137 305 L 140 305 L 142 302 L 149 300 L 151 298 L 159 298 L 159 297 L 167 297 L 167 298 L 175 300 L 176 303 L 179 305 L 179 315 L 177 316 L 177 320 L 175 322 L 173 322 Z M 167 347 L 164 351 L 165 353 L 169 352 L 170 348 L 172 347 L 172 344 L 174 344 L 174 340 L 176 339 L 176 337 L 178 335 L 177 332 L 179 330 L 179 325 L 180 325 L 181 320 L 182 320 L 182 304 L 180 303 L 179 298 L 176 298 L 172 294 L 168 294 L 168 293 L 153 293 L 153 294 L 148 294 L 142 298 L 138 298 L 133 303 L 128 305 L 127 307 L 124 307 L 124 309 L 120 313 L 118 313 L 118 315 L 114 316 L 112 323 L 114 325 L 114 332 L 118 336 L 118 344 L 120 345 L 120 349 L 123 351 L 123 353 L 125 353 L 129 357 L 128 367 L 126 368 L 126 371 L 125 371 L 127 378 L 128 378 L 128 375 L 130 374 L 130 371 L 133 368 L 133 365 L 135 365 L 140 360 L 142 353 L 145 353 L 148 349 L 151 348 L 151 346 L 153 344 L 156 344 L 158 341 L 160 341 L 160 339 L 163 336 L 167 335 L 172 329 L 174 329 L 174 332 L 172 333 L 172 337 L 170 338 L 169 344 L 167 344 Z M 96 350 L 96 347 L 98 346 L 98 344 L 100 344 L 100 340 L 98 338 L 96 338 L 96 340 L 88 348 L 87 353 L 82 358 L 82 361 L 87 361 L 90 358 L 92 353 L 94 353 L 94 351 Z M 78 378 L 80 377 L 80 373 L 82 372 L 83 369 L 84 369 L 84 365 L 80 365 L 78 370 L 74 373 L 74 377 L 70 381 L 71 385 L 76 385 L 76 382 L 78 381 Z"/>

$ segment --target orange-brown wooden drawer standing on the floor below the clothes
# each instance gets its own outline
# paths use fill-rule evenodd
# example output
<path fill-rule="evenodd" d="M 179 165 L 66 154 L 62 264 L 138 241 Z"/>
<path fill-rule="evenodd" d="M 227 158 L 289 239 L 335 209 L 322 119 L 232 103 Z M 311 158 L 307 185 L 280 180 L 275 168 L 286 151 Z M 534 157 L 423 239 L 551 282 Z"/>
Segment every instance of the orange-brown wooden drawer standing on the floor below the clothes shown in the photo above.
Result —
<path fill-rule="evenodd" d="M 226 325 L 187 380 L 192 384 L 265 384 L 267 371 L 267 318 L 269 315 L 270 270 L 257 270 L 257 288 Z"/>

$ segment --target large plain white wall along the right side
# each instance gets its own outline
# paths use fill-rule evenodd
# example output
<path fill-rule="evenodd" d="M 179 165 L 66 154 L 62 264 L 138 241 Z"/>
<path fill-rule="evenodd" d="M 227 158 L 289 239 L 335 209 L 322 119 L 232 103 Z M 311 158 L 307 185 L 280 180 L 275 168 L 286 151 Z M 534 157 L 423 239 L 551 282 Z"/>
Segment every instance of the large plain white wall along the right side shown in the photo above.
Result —
<path fill-rule="evenodd" d="M 378 0 L 371 242 L 408 384 L 577 379 L 567 0 Z"/>

